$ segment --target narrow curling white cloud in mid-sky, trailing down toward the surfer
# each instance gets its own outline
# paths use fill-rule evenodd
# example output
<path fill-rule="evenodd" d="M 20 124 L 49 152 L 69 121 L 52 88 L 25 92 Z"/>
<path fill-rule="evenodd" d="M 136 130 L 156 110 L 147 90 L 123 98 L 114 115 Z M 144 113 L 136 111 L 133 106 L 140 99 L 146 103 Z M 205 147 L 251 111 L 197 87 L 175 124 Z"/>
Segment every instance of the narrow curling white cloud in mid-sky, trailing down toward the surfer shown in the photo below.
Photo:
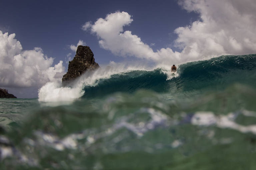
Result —
<path fill-rule="evenodd" d="M 127 12 L 108 14 L 105 19 L 99 18 L 91 27 L 91 32 L 98 36 L 102 48 L 110 50 L 119 56 L 135 56 L 149 60 L 173 62 L 180 60 L 180 53 L 173 52 L 171 48 L 161 48 L 156 52 L 150 45 L 141 41 L 131 31 L 123 30 L 124 26 L 131 24 L 133 19 Z"/>

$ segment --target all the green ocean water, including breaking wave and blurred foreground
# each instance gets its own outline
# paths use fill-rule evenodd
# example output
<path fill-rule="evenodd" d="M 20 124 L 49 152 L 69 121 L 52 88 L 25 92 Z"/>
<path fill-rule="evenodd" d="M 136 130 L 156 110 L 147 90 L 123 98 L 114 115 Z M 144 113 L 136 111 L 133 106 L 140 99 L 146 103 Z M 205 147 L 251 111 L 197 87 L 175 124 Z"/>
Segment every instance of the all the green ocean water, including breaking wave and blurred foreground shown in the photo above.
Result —
<path fill-rule="evenodd" d="M 254 170 L 256 54 L 106 68 L 0 99 L 0 169 Z"/>

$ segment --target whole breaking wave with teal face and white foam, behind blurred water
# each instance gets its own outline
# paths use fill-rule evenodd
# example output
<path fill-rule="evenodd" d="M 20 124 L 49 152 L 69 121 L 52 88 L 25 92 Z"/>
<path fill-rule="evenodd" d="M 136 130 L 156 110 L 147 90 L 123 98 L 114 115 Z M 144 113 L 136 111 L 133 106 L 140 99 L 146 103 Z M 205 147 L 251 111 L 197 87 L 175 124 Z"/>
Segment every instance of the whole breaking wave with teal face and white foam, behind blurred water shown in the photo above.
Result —
<path fill-rule="evenodd" d="M 76 98 L 102 97 L 115 92 L 132 93 L 152 90 L 159 93 L 222 90 L 234 83 L 255 86 L 256 54 L 223 55 L 204 61 L 178 65 L 177 73 L 114 65 L 86 73 L 74 82 L 72 88 L 48 83 L 39 90 L 40 101 L 75 100 Z M 53 93 L 54 92 L 54 93 Z M 54 95 L 54 100 L 51 96 Z"/>

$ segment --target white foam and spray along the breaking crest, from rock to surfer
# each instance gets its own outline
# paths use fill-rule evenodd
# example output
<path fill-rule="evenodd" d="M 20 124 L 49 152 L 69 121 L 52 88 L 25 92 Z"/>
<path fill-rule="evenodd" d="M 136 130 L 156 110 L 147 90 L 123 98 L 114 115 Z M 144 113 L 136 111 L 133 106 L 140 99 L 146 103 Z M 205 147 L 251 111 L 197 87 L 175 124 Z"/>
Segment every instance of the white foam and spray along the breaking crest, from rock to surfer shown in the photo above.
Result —
<path fill-rule="evenodd" d="M 61 81 L 48 82 L 38 90 L 38 101 L 40 102 L 73 102 L 75 99 L 83 96 L 82 91 L 84 86 L 95 86 L 97 80 L 108 79 L 114 74 L 125 74 L 134 70 L 152 71 L 156 68 L 162 68 L 164 73 L 167 73 L 168 78 L 177 77 L 178 73 L 172 75 L 167 66 L 149 67 L 141 63 L 115 63 L 110 62 L 107 66 L 101 66 L 93 72 L 86 72 L 73 82 L 71 87 L 62 87 Z M 56 104 L 56 103 L 55 103 Z M 67 103 L 68 104 L 68 103 Z M 51 103 L 51 105 L 54 105 Z"/>

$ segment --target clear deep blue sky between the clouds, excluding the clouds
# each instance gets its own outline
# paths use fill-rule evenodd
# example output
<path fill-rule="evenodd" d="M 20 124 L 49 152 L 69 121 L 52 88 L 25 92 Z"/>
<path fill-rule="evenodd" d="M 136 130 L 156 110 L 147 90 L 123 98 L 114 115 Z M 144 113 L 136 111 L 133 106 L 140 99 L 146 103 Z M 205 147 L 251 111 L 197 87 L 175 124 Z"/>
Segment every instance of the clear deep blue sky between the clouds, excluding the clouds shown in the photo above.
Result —
<path fill-rule="evenodd" d="M 97 36 L 84 32 L 81 27 L 87 21 L 95 22 L 107 14 L 125 11 L 133 22 L 124 30 L 132 31 L 147 44 L 155 43 L 154 50 L 173 46 L 177 27 L 189 25 L 198 14 L 188 13 L 177 1 L 2 1 L 0 30 L 15 33 L 24 50 L 41 47 L 54 63 L 65 60 L 71 51 L 68 45 L 83 40 L 92 49 L 99 64 L 121 61 L 125 58 L 100 48 Z M 126 58 L 127 59 L 127 58 Z M 130 60 L 129 58 L 128 60 Z M 66 63 L 63 64 L 66 68 Z"/>

